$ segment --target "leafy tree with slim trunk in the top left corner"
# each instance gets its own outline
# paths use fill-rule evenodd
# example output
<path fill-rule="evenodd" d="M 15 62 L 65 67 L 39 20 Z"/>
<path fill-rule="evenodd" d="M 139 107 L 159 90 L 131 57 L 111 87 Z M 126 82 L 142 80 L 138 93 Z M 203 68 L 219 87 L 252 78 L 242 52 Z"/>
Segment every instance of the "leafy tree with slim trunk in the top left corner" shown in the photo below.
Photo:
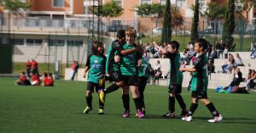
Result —
<path fill-rule="evenodd" d="M 22 10 L 26 10 L 27 8 L 30 8 L 31 5 L 30 3 L 22 3 L 19 0 L 1 0 L 0 3 L 4 9 L 9 10 L 8 14 L 8 20 L 9 20 L 9 42 L 11 42 L 11 37 L 10 37 L 10 14 L 15 14 L 17 15 L 20 13 Z"/>

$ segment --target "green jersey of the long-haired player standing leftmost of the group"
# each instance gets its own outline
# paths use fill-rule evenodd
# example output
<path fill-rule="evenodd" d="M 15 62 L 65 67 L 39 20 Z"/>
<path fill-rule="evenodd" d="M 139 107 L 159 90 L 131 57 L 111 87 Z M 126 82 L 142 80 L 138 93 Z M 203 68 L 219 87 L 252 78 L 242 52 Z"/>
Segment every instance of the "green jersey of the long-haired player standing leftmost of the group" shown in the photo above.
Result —
<path fill-rule="evenodd" d="M 85 65 L 89 67 L 88 81 L 99 83 L 100 75 L 105 75 L 106 57 L 91 54 Z"/>

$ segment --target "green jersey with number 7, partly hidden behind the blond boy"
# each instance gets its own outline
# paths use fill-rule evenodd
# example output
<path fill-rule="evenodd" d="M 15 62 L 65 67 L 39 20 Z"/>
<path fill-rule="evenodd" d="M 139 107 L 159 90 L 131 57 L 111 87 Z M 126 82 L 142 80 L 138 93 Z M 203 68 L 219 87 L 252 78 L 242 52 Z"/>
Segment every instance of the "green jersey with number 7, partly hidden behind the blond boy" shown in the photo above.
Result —
<path fill-rule="evenodd" d="M 142 62 L 143 62 L 143 64 L 138 69 L 138 76 L 139 77 L 144 76 L 146 78 L 149 78 L 150 65 L 148 64 L 148 62 L 144 58 L 142 58 Z"/>

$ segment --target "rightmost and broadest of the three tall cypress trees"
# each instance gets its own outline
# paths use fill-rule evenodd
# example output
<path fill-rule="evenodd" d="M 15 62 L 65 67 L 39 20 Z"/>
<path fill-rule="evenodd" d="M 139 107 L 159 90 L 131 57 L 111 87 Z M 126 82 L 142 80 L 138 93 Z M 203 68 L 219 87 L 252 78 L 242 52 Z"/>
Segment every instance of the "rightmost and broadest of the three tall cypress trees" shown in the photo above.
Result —
<path fill-rule="evenodd" d="M 235 25 L 235 0 L 229 0 L 228 8 L 226 9 L 224 16 L 224 27 L 222 33 L 222 40 L 224 44 L 229 48 L 229 50 L 234 50 L 232 48 L 234 38 L 233 33 L 236 28 Z"/>

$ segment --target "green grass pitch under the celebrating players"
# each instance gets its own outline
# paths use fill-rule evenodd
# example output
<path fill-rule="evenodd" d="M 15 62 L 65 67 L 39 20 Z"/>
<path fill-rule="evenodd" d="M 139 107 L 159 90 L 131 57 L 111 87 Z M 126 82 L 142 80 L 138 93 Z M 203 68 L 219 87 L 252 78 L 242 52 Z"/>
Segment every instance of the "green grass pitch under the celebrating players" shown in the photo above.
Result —
<path fill-rule="evenodd" d="M 219 94 L 208 91 L 208 97 L 224 120 L 208 123 L 212 115 L 199 103 L 193 121 L 163 119 L 167 111 L 165 86 L 147 86 L 147 116 L 137 119 L 132 98 L 131 118 L 124 119 L 120 90 L 108 95 L 105 114 L 97 114 L 98 97 L 93 95 L 93 110 L 82 114 L 85 82 L 55 80 L 54 87 L 15 86 L 16 79 L 0 78 L 0 133 L 255 133 L 256 93 Z M 189 108 L 190 91 L 183 89 Z M 180 108 L 176 102 L 176 112 Z"/>

